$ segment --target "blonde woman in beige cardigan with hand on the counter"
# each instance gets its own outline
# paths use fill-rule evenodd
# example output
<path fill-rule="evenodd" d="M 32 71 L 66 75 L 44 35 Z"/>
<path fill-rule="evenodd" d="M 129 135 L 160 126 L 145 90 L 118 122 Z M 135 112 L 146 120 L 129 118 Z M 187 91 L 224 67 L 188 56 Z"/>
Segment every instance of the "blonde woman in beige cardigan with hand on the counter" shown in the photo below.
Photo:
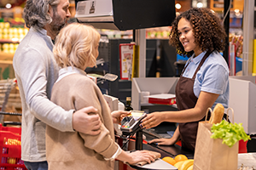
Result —
<path fill-rule="evenodd" d="M 127 153 L 114 142 L 113 122 L 101 90 L 84 72 L 96 65 L 100 34 L 91 26 L 73 23 L 64 27 L 53 49 L 61 67 L 52 88 L 51 100 L 65 110 L 92 105 L 101 117 L 101 133 L 93 136 L 79 132 L 61 132 L 46 128 L 46 156 L 50 169 L 113 169 L 114 159 L 137 163 L 154 161 L 147 151 Z M 116 118 L 116 117 L 115 117 Z"/>

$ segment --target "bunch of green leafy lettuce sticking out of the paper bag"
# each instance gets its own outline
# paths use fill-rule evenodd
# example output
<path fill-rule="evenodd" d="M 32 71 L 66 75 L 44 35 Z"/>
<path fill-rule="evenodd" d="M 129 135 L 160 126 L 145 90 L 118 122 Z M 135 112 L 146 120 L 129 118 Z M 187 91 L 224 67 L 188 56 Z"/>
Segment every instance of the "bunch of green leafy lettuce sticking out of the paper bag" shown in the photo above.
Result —
<path fill-rule="evenodd" d="M 250 136 L 244 132 L 242 123 L 235 124 L 231 122 L 222 121 L 217 124 L 212 125 L 212 139 L 223 139 L 223 144 L 227 144 L 232 147 L 236 142 L 243 139 L 243 141 L 247 141 L 250 139 Z"/>

